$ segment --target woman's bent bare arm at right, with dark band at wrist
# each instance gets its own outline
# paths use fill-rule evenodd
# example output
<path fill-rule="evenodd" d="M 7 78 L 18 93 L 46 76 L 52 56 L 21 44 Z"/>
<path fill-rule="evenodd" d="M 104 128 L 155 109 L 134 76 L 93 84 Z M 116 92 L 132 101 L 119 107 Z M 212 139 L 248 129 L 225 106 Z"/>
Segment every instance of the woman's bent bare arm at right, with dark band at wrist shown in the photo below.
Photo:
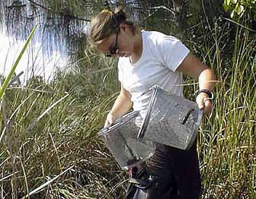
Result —
<path fill-rule="evenodd" d="M 189 54 L 181 65 L 177 68 L 177 71 L 181 71 L 183 74 L 199 81 L 199 90 L 206 89 L 213 91 L 213 87 L 216 84 L 216 77 L 213 70 L 204 65 L 194 55 Z M 203 99 L 208 98 L 206 93 L 199 93 L 197 96 L 197 104 L 200 109 L 203 109 L 204 114 L 208 115 L 212 110 L 212 103 L 210 100 Z"/>

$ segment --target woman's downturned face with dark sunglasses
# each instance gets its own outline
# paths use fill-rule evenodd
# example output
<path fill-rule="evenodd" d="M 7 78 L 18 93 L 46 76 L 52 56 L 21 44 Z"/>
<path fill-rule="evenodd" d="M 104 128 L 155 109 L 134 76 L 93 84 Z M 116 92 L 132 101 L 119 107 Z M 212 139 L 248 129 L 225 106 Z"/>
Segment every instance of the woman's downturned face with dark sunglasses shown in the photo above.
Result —
<path fill-rule="evenodd" d="M 126 24 L 120 24 L 120 31 L 112 33 L 99 45 L 104 55 L 112 57 L 129 57 L 133 54 L 133 33 Z"/>

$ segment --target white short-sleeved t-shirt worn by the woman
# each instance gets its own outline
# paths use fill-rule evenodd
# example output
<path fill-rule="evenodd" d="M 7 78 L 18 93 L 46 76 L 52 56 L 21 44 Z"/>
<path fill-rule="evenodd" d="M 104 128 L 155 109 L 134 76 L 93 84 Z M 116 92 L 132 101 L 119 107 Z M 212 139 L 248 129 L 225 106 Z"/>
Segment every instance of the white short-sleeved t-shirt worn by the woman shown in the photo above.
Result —
<path fill-rule="evenodd" d="M 146 112 L 150 93 L 142 93 L 154 85 L 182 96 L 182 74 L 176 69 L 189 52 L 174 36 L 142 30 L 139 61 L 131 64 L 129 57 L 120 57 L 118 61 L 118 79 L 131 93 L 133 110 L 139 110 L 141 114 Z"/>

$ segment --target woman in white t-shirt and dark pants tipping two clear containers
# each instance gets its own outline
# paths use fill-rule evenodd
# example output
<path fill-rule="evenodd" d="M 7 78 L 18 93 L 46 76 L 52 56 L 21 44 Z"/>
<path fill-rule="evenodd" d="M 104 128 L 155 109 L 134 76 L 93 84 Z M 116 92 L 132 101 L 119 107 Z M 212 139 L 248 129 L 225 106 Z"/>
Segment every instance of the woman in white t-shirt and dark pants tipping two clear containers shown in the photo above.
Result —
<path fill-rule="evenodd" d="M 199 81 L 196 101 L 204 114 L 211 112 L 215 75 L 173 36 L 140 30 L 120 9 L 104 10 L 94 17 L 89 39 L 101 53 L 119 58 L 120 94 L 107 115 L 105 126 L 131 108 L 145 112 L 149 96 L 142 93 L 153 85 L 182 96 L 182 74 Z M 139 182 L 149 182 L 152 176 L 154 180 L 150 185 L 130 186 L 126 198 L 199 198 L 196 143 L 189 151 L 158 144 L 154 156 L 133 171 Z"/>

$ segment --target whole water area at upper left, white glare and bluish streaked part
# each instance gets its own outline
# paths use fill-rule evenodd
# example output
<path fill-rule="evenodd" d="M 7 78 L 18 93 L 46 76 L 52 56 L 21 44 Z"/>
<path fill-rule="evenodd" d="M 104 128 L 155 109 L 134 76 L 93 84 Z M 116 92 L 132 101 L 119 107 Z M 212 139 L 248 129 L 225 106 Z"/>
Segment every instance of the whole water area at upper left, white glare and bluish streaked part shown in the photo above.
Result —
<path fill-rule="evenodd" d="M 15 71 L 21 74 L 20 83 L 30 77 L 50 81 L 57 69 L 71 68 L 79 39 L 85 39 L 87 21 L 53 16 L 29 1 L 2 1 L 0 11 L 0 75 L 7 76 L 36 24 L 36 33 Z"/>

